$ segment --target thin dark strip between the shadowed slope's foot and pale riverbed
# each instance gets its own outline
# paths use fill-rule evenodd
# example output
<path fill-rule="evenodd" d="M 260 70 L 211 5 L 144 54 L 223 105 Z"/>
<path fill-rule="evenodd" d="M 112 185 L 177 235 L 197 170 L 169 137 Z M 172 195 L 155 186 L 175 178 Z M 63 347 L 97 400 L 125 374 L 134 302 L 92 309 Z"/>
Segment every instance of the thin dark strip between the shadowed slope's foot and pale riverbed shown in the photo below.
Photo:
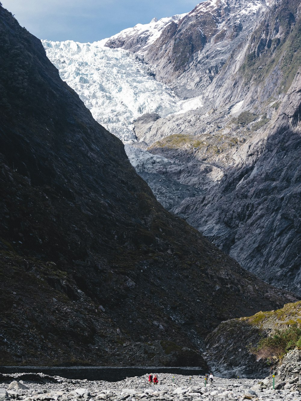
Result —
<path fill-rule="evenodd" d="M 195 367 L 47 367 L 47 366 L 1 366 L 0 373 L 44 373 L 67 379 L 88 379 L 119 381 L 126 377 L 142 376 L 149 373 L 174 373 L 177 375 L 203 375 L 201 368 Z"/>

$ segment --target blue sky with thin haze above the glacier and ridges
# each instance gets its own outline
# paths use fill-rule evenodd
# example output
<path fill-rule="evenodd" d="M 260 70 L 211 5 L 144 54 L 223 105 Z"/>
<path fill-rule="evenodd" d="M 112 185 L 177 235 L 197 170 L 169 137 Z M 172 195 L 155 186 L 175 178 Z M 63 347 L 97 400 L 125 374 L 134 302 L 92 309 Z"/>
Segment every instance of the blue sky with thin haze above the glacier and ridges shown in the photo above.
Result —
<path fill-rule="evenodd" d="M 138 23 L 191 11 L 200 0 L 0 0 L 40 39 L 94 42 Z"/>

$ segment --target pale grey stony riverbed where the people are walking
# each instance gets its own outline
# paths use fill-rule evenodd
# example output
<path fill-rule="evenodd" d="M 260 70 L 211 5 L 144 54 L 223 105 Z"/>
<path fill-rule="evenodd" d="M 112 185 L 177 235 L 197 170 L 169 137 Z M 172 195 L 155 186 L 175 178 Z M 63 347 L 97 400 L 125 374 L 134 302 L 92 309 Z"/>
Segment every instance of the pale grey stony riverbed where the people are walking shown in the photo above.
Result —
<path fill-rule="evenodd" d="M 154 375 L 156 372 L 149 373 Z M 299 401 L 301 399 L 301 389 L 298 389 L 296 384 L 283 383 L 280 386 L 281 389 L 273 390 L 269 378 L 264 380 L 214 378 L 214 383 L 206 387 L 204 377 L 198 375 L 189 377 L 161 373 L 158 375 L 158 385 L 149 385 L 147 380 L 148 375 L 128 377 L 117 382 L 69 380 L 42 373 L 0 375 L 0 401 L 13 399 L 24 401 L 213 401 L 214 399 Z M 1 381 L 3 381 L 2 384 Z"/>

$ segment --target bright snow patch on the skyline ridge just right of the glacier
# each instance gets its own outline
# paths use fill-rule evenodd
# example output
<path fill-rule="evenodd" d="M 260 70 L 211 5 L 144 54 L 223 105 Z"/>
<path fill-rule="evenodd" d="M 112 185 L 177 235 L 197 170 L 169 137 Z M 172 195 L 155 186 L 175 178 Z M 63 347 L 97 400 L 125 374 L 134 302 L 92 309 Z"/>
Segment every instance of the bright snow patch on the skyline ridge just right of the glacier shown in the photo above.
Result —
<path fill-rule="evenodd" d="M 139 53 L 143 53 L 147 50 L 147 47 L 156 41 L 164 28 L 171 24 L 172 22 L 179 22 L 182 18 L 187 15 L 185 14 L 176 14 L 172 17 L 161 18 L 158 20 L 157 18 L 153 18 L 149 24 L 137 24 L 133 26 L 133 28 L 127 28 L 122 30 L 121 32 L 111 36 L 107 42 L 107 46 L 110 46 L 111 43 L 120 44 L 120 47 L 123 47 L 124 42 L 134 41 L 139 46 Z M 133 43 L 131 44 L 131 50 L 133 49 Z"/>

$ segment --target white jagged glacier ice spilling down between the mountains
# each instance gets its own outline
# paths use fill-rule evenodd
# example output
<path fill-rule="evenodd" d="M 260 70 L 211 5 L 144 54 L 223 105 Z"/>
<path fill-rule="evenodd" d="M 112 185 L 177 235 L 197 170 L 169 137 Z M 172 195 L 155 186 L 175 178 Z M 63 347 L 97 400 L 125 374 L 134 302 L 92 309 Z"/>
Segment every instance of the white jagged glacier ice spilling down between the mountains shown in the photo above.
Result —
<path fill-rule="evenodd" d="M 42 40 L 42 44 L 63 81 L 77 92 L 95 120 L 123 143 L 137 141 L 133 122 L 144 113 L 165 117 L 202 106 L 198 99 L 183 101 L 156 81 L 141 56 L 105 47 L 106 41 Z"/>

